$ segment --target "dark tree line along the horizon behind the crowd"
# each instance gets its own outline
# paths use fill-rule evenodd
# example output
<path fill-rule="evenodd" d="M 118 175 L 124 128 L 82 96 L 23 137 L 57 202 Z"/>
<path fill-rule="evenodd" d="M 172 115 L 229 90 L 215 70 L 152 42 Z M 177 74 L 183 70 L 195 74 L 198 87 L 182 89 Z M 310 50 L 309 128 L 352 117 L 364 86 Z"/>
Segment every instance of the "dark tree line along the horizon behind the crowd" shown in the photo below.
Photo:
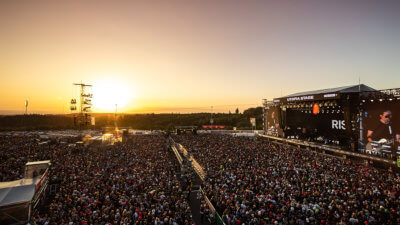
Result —
<path fill-rule="evenodd" d="M 168 113 L 168 114 L 118 114 L 94 113 L 95 126 L 89 128 L 101 129 L 114 126 L 115 121 L 119 127 L 130 127 L 141 130 L 172 130 L 174 126 L 209 125 L 210 113 Z M 214 113 L 213 124 L 225 125 L 226 129 L 252 129 L 250 118 L 255 117 L 257 129 L 262 129 L 262 107 L 249 108 L 239 113 Z M 65 130 L 78 129 L 74 125 L 74 115 L 2 115 L 0 116 L 1 131 L 15 130 Z"/>

